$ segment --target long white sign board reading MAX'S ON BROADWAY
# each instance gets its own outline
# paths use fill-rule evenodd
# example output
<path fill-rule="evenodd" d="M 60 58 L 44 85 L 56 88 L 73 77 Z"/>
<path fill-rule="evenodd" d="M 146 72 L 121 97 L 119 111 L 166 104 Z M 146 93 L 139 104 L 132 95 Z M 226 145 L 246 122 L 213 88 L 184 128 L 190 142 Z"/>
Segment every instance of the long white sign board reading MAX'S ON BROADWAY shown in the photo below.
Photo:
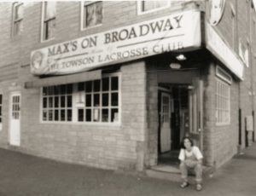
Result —
<path fill-rule="evenodd" d="M 83 72 L 98 66 L 199 47 L 200 11 L 186 11 L 34 50 L 31 72 L 35 75 Z"/>

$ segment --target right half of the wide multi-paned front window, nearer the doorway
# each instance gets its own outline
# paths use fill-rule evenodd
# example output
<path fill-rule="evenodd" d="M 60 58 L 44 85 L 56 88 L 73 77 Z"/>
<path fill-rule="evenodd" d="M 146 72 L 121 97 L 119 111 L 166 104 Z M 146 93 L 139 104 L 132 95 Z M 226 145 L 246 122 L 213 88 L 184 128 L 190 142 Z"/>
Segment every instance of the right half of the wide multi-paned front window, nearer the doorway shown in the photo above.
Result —
<path fill-rule="evenodd" d="M 84 107 L 78 109 L 79 122 L 119 122 L 119 78 L 102 78 L 79 84 Z"/>

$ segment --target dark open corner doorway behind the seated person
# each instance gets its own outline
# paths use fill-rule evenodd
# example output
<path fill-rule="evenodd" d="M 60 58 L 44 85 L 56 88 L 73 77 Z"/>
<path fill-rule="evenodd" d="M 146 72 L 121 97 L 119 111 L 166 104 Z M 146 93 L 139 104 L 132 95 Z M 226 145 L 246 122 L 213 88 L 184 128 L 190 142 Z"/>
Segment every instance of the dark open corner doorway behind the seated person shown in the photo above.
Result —
<path fill-rule="evenodd" d="M 184 136 L 201 148 L 202 82 L 159 84 L 158 164 L 179 164 Z"/>

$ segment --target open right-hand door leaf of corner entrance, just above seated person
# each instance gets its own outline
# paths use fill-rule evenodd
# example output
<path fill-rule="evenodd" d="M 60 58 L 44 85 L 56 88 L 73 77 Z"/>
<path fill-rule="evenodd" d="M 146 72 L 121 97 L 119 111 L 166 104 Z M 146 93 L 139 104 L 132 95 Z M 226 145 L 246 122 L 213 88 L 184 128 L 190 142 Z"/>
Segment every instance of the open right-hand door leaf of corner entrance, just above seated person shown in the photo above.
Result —
<path fill-rule="evenodd" d="M 203 81 L 193 80 L 193 86 L 190 86 L 189 89 L 189 136 L 202 151 Z"/>

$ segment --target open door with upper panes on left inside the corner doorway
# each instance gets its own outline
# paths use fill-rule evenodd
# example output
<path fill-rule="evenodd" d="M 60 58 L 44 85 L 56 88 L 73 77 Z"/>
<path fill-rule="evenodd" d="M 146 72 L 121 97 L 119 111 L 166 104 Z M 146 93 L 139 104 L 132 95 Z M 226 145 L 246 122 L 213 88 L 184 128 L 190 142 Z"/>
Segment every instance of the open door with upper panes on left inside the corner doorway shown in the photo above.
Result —
<path fill-rule="evenodd" d="M 160 104 L 160 152 L 165 153 L 171 150 L 171 97 L 161 93 Z"/>

